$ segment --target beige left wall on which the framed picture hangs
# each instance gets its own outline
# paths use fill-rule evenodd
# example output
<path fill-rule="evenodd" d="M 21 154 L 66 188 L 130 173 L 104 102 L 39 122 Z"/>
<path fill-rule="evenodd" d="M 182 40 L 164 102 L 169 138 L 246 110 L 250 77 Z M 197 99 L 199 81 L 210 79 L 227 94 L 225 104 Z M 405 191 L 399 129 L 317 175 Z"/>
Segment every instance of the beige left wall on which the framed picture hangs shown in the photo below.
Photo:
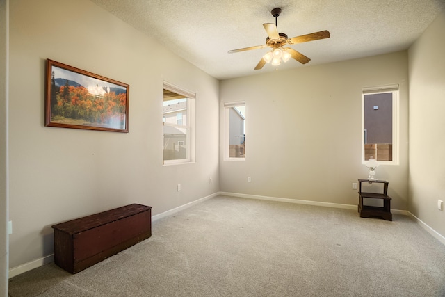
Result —
<path fill-rule="evenodd" d="M 128 83 L 129 133 L 44 127 L 47 58 Z M 163 79 L 197 92 L 196 163 L 162 166 Z M 10 267 L 51 255 L 55 223 L 217 193 L 218 94 L 218 80 L 88 0 L 11 1 Z"/>

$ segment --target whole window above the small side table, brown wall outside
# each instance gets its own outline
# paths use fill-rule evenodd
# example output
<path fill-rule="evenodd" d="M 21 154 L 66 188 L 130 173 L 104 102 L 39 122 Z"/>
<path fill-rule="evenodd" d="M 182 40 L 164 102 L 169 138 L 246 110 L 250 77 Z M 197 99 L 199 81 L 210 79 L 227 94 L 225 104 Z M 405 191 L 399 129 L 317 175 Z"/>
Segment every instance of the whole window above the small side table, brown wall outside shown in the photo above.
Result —
<path fill-rule="evenodd" d="M 398 163 L 398 85 L 362 89 L 362 162 Z"/>

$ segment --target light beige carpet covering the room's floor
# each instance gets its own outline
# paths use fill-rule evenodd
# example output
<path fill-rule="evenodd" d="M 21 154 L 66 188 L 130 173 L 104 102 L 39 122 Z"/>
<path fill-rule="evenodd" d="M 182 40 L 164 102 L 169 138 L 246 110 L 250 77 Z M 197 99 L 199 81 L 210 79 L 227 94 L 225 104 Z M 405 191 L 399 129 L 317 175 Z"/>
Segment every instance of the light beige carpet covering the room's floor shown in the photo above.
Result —
<path fill-rule="evenodd" d="M 75 275 L 17 275 L 9 296 L 445 296 L 445 246 L 393 217 L 220 195 Z"/>

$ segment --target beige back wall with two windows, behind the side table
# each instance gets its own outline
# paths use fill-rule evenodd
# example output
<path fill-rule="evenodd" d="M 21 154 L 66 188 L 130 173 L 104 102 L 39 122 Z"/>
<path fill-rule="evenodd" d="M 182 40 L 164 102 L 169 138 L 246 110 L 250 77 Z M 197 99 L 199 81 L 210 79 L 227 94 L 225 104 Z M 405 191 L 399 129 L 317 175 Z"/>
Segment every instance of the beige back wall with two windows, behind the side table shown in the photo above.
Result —
<path fill-rule="evenodd" d="M 407 209 L 407 51 L 222 81 L 220 108 L 245 100 L 248 116 L 245 162 L 220 152 L 221 191 L 357 204 L 352 183 L 368 176 L 362 87 L 392 83 L 400 85 L 400 164 L 376 172 L 389 181 L 391 207 Z"/>

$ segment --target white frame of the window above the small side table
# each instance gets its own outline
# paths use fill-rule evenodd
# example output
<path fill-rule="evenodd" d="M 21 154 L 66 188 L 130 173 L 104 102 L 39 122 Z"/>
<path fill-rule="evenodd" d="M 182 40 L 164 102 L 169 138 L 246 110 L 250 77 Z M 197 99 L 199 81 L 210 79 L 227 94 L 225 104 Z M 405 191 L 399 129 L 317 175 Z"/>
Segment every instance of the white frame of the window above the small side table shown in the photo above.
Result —
<path fill-rule="evenodd" d="M 365 95 L 382 94 L 382 93 L 392 93 L 392 161 L 377 161 L 380 165 L 398 165 L 399 164 L 399 93 L 400 88 L 398 84 L 387 85 L 387 86 L 376 86 L 362 88 L 362 164 L 366 164 L 367 161 L 364 159 L 364 144 L 365 144 L 365 134 L 364 129 L 364 97 Z"/>

